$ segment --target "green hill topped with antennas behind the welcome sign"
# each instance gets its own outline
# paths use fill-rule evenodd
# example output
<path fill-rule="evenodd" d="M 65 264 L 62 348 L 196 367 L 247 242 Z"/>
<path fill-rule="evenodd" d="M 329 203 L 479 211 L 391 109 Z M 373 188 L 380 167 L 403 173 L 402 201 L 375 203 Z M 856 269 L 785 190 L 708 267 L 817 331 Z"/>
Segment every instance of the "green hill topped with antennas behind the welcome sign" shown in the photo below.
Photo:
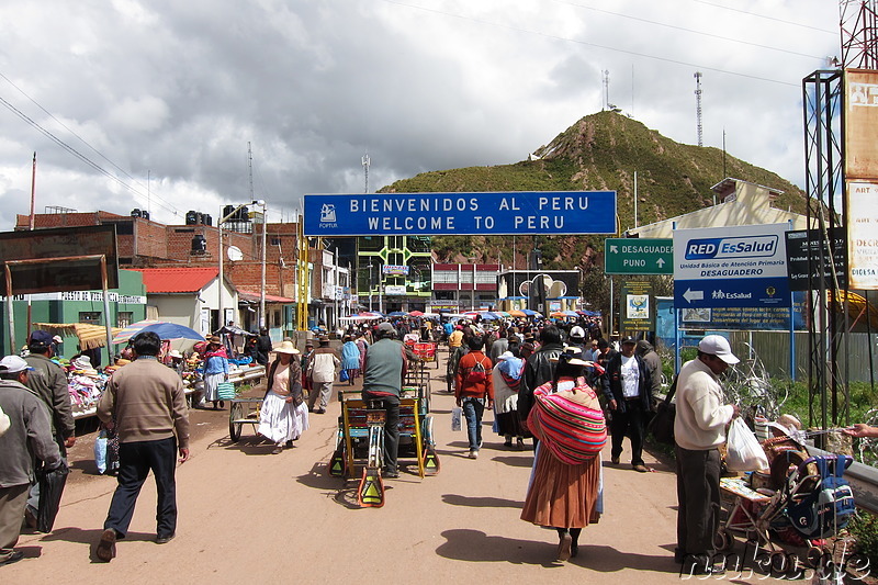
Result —
<path fill-rule="evenodd" d="M 804 192 L 774 172 L 725 155 L 718 148 L 676 143 L 642 123 L 614 112 L 583 117 L 550 144 L 534 150 L 537 160 L 495 167 L 424 172 L 381 193 L 454 191 L 592 191 L 618 196 L 621 230 L 633 227 L 634 171 L 638 172 L 639 225 L 696 211 L 713 202 L 712 185 L 734 177 L 784 191 L 775 205 L 806 211 Z M 589 269 L 597 263 L 605 236 L 543 236 L 547 269 Z M 439 236 L 432 240 L 439 261 L 513 263 L 511 236 Z M 524 268 L 533 238 L 515 240 L 516 267 Z"/>

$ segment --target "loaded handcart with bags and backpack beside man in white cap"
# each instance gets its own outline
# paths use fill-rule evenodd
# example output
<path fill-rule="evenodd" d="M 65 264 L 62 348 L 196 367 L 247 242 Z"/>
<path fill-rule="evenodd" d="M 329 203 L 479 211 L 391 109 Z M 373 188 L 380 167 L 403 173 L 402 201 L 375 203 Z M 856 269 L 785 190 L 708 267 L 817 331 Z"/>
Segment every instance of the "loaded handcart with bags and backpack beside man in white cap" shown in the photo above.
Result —
<path fill-rule="evenodd" d="M 788 558 L 784 549 L 788 548 L 804 549 L 803 560 L 809 565 L 817 566 L 824 554 L 831 554 L 823 539 L 835 536 L 847 524 L 846 517 L 840 516 L 836 519 L 832 515 L 841 510 L 842 505 L 853 509 L 853 493 L 845 485 L 847 491 L 838 493 L 848 497 L 849 502 L 842 502 L 840 498 L 830 508 L 813 510 L 814 521 L 820 518 L 822 526 L 804 522 L 801 509 L 817 507 L 820 498 L 815 495 L 832 485 L 830 477 L 841 477 L 844 469 L 852 462 L 853 458 L 847 455 L 810 457 L 801 462 L 796 461 L 778 490 L 755 491 L 747 485 L 744 477 L 721 479 L 723 496 L 731 496 L 734 504 L 728 519 L 717 531 L 717 550 L 731 551 L 735 535 L 743 535 L 748 542 L 768 548 L 770 566 L 786 566 Z"/>

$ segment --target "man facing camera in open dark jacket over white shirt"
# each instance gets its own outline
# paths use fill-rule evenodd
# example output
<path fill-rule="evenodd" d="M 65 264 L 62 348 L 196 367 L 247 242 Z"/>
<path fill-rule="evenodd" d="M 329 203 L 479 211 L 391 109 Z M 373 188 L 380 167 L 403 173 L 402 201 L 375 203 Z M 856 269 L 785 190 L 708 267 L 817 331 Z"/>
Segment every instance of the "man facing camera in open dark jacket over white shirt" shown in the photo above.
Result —
<path fill-rule="evenodd" d="M 607 363 L 604 395 L 612 413 L 612 462 L 619 463 L 622 440 L 626 432 L 630 432 L 631 465 L 634 471 L 645 473 L 650 469 L 643 463 L 643 435 L 646 414 L 652 405 L 652 381 L 649 365 L 634 355 L 635 346 L 637 340 L 633 337 L 622 339 L 621 351 Z"/>

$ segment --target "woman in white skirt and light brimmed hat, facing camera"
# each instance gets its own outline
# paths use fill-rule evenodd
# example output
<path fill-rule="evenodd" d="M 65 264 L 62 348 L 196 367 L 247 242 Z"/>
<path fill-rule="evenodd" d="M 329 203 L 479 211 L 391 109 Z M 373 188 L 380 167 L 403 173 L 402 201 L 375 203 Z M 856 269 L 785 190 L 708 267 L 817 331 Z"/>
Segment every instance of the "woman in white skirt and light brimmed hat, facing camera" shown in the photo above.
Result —
<path fill-rule="evenodd" d="M 302 395 L 302 365 L 292 341 L 274 349 L 277 358 L 268 370 L 268 392 L 262 401 L 257 432 L 274 443 L 272 454 L 292 447 L 308 428 L 308 407 Z"/>

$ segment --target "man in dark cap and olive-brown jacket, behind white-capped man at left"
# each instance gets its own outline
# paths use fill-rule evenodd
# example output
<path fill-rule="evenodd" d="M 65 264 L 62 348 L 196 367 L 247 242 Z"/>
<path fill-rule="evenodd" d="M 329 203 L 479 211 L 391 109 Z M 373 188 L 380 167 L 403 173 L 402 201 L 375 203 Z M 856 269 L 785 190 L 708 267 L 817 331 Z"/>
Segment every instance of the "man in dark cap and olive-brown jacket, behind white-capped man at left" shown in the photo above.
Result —
<path fill-rule="evenodd" d="M 67 385 L 67 374 L 60 365 L 52 361 L 55 355 L 55 340 L 42 329 L 31 333 L 27 341 L 30 355 L 24 359 L 31 370 L 27 372 L 26 386 L 42 400 L 48 407 L 52 434 L 58 443 L 61 459 L 67 462 L 67 449 L 76 443 L 76 425 L 70 407 L 70 391 Z M 24 511 L 25 521 L 31 528 L 36 528 L 36 509 L 40 506 L 40 484 L 31 487 L 27 507 Z"/>

